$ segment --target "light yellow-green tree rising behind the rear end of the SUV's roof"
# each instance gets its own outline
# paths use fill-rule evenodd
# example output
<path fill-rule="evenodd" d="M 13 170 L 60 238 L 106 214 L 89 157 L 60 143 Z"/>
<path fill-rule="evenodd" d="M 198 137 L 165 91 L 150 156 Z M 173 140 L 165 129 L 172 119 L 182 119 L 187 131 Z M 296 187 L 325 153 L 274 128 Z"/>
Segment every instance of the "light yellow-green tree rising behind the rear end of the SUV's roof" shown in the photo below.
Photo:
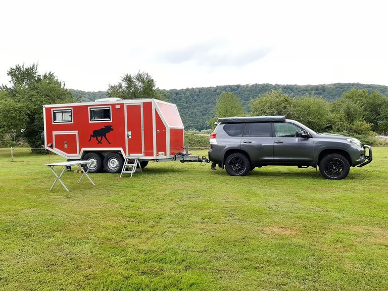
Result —
<path fill-rule="evenodd" d="M 241 99 L 234 93 L 223 92 L 216 100 L 216 107 L 213 110 L 214 117 L 207 124 L 215 127 L 214 122 L 219 117 L 244 116 L 244 105 Z"/>

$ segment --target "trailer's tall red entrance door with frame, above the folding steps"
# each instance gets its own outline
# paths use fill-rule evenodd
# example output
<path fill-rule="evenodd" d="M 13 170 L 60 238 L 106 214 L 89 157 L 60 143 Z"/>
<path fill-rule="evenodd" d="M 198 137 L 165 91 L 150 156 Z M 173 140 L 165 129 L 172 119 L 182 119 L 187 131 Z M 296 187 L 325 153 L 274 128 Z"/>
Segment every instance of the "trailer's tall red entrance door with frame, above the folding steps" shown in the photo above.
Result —
<path fill-rule="evenodd" d="M 131 104 L 126 109 L 127 156 L 144 156 L 143 106 Z"/>

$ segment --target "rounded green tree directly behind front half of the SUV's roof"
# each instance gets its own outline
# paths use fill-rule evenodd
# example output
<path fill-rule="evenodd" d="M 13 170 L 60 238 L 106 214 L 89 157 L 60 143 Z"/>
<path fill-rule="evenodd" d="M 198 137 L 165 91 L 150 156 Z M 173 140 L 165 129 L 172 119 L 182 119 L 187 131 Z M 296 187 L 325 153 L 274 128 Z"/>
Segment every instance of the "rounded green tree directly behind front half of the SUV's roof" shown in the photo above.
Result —
<path fill-rule="evenodd" d="M 295 102 L 281 89 L 267 91 L 250 103 L 253 116 L 285 115 L 293 118 L 295 115 Z"/>

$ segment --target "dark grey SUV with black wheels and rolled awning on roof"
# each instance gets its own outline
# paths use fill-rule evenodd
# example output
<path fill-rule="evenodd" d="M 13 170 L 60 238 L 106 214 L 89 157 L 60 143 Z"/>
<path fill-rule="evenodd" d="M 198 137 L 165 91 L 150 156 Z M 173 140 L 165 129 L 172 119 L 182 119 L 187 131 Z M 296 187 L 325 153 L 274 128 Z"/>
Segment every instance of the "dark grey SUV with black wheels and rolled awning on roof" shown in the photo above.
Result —
<path fill-rule="evenodd" d="M 352 137 L 321 134 L 285 116 L 219 118 L 210 135 L 212 168 L 245 176 L 255 167 L 319 167 L 326 179 L 340 180 L 350 167 L 372 161 L 372 148 Z M 368 149 L 368 155 L 366 155 Z"/>

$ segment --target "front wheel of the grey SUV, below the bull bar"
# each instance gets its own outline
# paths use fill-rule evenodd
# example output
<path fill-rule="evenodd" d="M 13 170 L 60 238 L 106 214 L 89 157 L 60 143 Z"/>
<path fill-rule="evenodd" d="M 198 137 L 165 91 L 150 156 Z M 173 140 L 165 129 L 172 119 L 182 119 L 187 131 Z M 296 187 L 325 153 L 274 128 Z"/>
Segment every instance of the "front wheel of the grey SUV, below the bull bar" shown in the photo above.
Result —
<path fill-rule="evenodd" d="M 341 180 L 349 174 L 349 161 L 343 155 L 329 154 L 319 162 L 319 171 L 325 179 Z"/>

